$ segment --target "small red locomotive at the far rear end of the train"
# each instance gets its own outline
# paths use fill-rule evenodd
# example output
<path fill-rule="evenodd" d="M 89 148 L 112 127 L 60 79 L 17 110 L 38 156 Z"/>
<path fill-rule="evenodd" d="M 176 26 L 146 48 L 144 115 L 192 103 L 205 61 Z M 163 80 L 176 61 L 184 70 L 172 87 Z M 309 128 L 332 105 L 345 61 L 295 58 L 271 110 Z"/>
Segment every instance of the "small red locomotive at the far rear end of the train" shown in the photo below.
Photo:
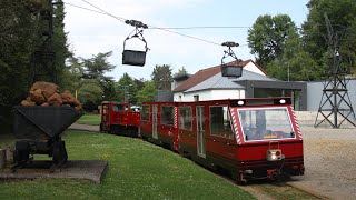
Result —
<path fill-rule="evenodd" d="M 140 112 L 127 102 L 101 102 L 100 131 L 139 137 Z"/>

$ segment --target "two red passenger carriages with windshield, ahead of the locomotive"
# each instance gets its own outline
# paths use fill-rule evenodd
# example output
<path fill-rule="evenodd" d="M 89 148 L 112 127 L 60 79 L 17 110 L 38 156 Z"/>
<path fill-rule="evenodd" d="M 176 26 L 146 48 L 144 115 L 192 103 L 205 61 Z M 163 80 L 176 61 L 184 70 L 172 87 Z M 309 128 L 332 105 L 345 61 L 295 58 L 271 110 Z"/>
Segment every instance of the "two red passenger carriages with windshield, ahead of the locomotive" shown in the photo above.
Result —
<path fill-rule="evenodd" d="M 138 123 L 142 139 L 241 182 L 304 174 L 290 98 L 146 102 Z"/>

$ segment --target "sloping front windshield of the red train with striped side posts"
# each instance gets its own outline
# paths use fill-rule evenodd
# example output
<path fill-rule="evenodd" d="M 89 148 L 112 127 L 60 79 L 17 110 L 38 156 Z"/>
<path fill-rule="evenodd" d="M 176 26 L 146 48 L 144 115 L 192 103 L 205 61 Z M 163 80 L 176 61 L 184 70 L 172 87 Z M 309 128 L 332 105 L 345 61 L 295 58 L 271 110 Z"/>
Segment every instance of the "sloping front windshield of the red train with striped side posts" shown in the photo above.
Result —
<path fill-rule="evenodd" d="M 245 141 L 295 138 L 287 108 L 238 110 Z"/>

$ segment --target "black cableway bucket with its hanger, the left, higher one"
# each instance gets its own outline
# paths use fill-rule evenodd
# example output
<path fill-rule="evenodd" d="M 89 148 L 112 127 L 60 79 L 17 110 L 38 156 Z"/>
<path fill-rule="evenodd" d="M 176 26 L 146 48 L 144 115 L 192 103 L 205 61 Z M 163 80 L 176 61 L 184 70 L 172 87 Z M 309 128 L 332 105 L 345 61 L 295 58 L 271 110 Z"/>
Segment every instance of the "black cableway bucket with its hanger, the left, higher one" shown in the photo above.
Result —
<path fill-rule="evenodd" d="M 122 64 L 130 64 L 130 66 L 145 66 L 146 62 L 146 53 L 148 51 L 147 42 L 142 36 L 142 29 L 147 29 L 147 24 L 136 21 L 136 20 L 126 20 L 126 23 L 131 24 L 135 27 L 132 33 L 130 33 L 123 41 L 123 52 L 122 52 Z M 137 50 L 128 50 L 126 49 L 126 41 L 132 38 L 138 38 L 145 43 L 144 51 Z"/>

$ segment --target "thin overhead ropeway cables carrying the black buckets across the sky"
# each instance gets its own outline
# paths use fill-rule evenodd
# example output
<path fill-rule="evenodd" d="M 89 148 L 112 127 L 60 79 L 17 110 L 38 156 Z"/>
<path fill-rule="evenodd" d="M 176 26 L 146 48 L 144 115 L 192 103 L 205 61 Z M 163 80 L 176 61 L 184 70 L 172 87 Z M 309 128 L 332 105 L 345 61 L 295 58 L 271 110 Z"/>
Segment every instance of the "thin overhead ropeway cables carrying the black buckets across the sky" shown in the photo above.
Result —
<path fill-rule="evenodd" d="M 68 3 L 66 2 L 66 4 L 68 6 L 72 6 L 72 7 L 76 7 L 76 8 L 80 8 L 80 9 L 83 9 L 83 10 L 88 10 L 88 11 L 92 11 L 92 12 L 97 12 L 97 13 L 101 13 L 101 14 L 106 14 L 106 16 L 109 16 L 109 17 L 112 17 L 121 22 L 126 22 L 127 19 L 125 18 L 121 18 L 121 17 L 118 17 L 118 16 L 113 16 L 107 11 L 105 11 L 103 9 L 86 1 L 86 0 L 82 0 L 85 3 L 98 9 L 99 11 L 97 10 L 92 10 L 92 9 L 88 9 L 88 8 L 85 8 L 85 7 L 80 7 L 80 6 L 77 6 L 77 4 L 72 4 L 72 3 Z M 217 42 L 214 42 L 214 41 L 209 41 L 209 40 L 206 40 L 206 39 L 201 39 L 201 38 L 198 38 L 198 37 L 192 37 L 192 36 L 189 36 L 189 34 L 185 34 L 185 33 L 180 33 L 180 32 L 177 32 L 177 31 L 172 31 L 170 29 L 233 29 L 233 28 L 250 28 L 250 27 L 176 27 L 176 28 L 160 28 L 160 27 L 154 27 L 154 26 L 148 26 L 148 29 L 158 29 L 158 30 L 161 30 L 161 31 L 166 31 L 166 32 L 170 32 L 170 33 L 174 33 L 174 34 L 177 34 L 177 36 L 181 36 L 181 37 L 186 37 L 186 38 L 190 38 L 190 39 L 195 39 L 195 40 L 199 40 L 199 41 L 202 41 L 202 42 L 207 42 L 207 43 L 210 43 L 210 44 L 215 44 L 215 46 L 219 46 L 221 47 L 221 43 L 217 43 Z M 247 46 L 247 44 L 241 44 L 239 47 L 244 47 L 244 46 Z"/>

